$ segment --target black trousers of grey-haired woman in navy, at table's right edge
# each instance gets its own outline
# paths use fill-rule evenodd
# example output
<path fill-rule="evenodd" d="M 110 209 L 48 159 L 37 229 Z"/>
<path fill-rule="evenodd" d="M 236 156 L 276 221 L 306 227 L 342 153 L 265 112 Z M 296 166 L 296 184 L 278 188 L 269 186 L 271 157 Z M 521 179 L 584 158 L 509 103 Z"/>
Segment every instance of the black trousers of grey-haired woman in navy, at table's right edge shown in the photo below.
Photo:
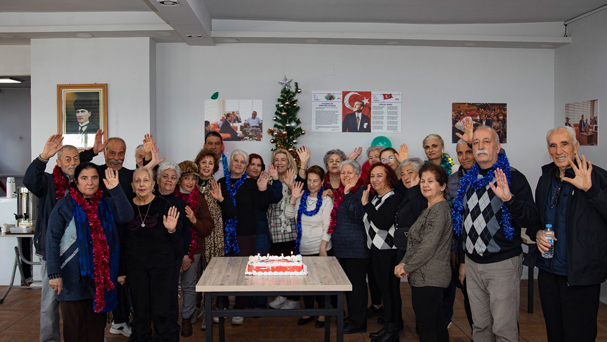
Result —
<path fill-rule="evenodd" d="M 348 306 L 348 319 L 354 329 L 367 328 L 367 269 L 369 259 L 340 258 L 339 264 L 348 280 L 352 291 L 345 293 Z"/>

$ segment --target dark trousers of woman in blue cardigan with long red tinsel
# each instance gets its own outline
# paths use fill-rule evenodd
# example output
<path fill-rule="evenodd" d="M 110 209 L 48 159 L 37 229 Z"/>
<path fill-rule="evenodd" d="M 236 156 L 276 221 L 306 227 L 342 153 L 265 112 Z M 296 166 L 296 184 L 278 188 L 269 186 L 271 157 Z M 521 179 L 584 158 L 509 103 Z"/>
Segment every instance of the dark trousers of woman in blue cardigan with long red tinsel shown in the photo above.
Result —
<path fill-rule="evenodd" d="M 103 342 L 106 322 L 95 317 L 93 299 L 60 301 L 65 342 Z"/>

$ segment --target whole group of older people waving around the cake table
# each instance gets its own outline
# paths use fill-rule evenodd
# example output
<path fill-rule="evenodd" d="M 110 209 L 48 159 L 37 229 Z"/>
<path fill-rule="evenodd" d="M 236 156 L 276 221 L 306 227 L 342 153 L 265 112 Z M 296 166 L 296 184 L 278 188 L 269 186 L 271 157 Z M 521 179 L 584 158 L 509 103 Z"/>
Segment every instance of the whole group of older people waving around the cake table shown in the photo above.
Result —
<path fill-rule="evenodd" d="M 65 341 L 103 341 L 107 312 L 114 312 L 110 332 L 133 341 L 188 337 L 203 315 L 195 283 L 211 258 L 291 251 L 338 259 L 352 284 L 345 333 L 366 332 L 367 319 L 379 316 L 384 327 L 370 333 L 371 341 L 398 341 L 404 327 L 400 282 L 406 277 L 420 341 L 449 340 L 456 287 L 475 340 L 517 341 L 520 228 L 529 228 L 544 253 L 550 247 L 541 234 L 546 223 L 557 226 L 555 263 L 543 262 L 535 250 L 528 259 L 533 265 L 537 258 L 540 267 L 549 340 L 577 339 L 580 333 L 592 340 L 597 284 L 607 276 L 599 246 L 607 242 L 607 174 L 577 156 L 571 129 L 551 130 L 546 139 L 554 162 L 544 166 L 546 176 L 538 183 L 537 191 L 547 192 L 536 193 L 544 201 L 540 206 L 492 128 L 466 123 L 459 137 L 459 165 L 443 139 L 430 134 L 422 142 L 425 161 L 409 157 L 402 144 L 398 151 L 371 146 L 362 166 L 356 161 L 362 148 L 350 156 L 331 149 L 324 167 L 308 166 L 311 151 L 301 146 L 299 167 L 284 149 L 273 151 L 266 167 L 258 154 L 223 154 L 215 132 L 206 135 L 194 161 L 180 163 L 160 159 L 146 135 L 138 167 L 129 170 L 122 166 L 126 144 L 120 138 L 101 143 L 98 132 L 93 149 L 78 154 L 62 145 L 61 135 L 52 135 L 24 181 L 42 197 L 35 244 L 50 290 L 42 290 L 41 341 L 59 340 L 57 303 Z M 101 151 L 106 164 L 90 163 Z M 55 154 L 53 174 L 44 173 Z M 574 205 L 583 224 L 565 215 Z M 573 264 L 579 254 L 595 258 Z M 299 300 L 278 296 L 269 304 L 296 309 Z M 322 296 L 303 298 L 306 307 L 315 300 L 325 305 Z M 217 305 L 217 298 L 212 301 Z M 267 305 L 266 297 L 237 296 L 234 307 Z M 577 316 L 565 318 L 571 310 Z M 324 316 L 303 316 L 297 324 L 314 320 L 324 326 Z M 243 324 L 243 318 L 232 318 L 232 324 Z"/>

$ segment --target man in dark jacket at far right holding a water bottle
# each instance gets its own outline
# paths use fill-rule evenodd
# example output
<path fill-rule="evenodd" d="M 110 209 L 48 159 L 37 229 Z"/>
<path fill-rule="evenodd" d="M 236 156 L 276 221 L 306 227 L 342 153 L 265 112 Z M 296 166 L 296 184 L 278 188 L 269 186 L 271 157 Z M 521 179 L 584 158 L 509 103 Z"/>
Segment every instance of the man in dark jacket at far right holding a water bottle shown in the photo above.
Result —
<path fill-rule="evenodd" d="M 594 341 L 601 283 L 607 278 L 607 171 L 577 155 L 580 144 L 570 126 L 551 129 L 547 137 L 552 163 L 544 165 L 535 203 L 540 224 L 527 235 L 537 242 L 526 262 L 538 273 L 541 309 L 549 341 Z M 542 258 L 550 243 L 546 224 L 555 232 L 554 256 Z M 537 262 L 536 262 L 537 260 Z"/>

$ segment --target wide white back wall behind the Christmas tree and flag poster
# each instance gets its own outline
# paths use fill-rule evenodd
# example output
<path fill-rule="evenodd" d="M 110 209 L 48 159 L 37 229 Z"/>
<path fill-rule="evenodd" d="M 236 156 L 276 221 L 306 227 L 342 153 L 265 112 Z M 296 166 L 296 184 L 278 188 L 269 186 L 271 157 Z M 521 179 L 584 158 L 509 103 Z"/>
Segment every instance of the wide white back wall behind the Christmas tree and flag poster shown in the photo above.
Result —
<path fill-rule="evenodd" d="M 438 133 L 450 143 L 452 102 L 508 104 L 508 143 L 513 166 L 535 188 L 540 165 L 548 162 L 544 132 L 554 122 L 552 50 L 450 47 L 218 44 L 193 47 L 157 44 L 158 145 L 175 162 L 193 159 L 203 145 L 204 103 L 215 91 L 223 99 L 262 99 L 265 128 L 273 126 L 278 80 L 299 82 L 300 118 L 307 134 L 300 143 L 322 163 L 325 151 L 367 148 L 373 134 L 311 132 L 310 91 L 402 91 L 401 134 L 385 134 L 393 145 L 404 142 L 410 156 L 424 157 L 421 142 Z M 324 75 L 334 66 L 334 75 Z M 227 142 L 270 158 L 270 136 L 263 142 Z M 361 161 L 365 158 L 362 157 Z M 532 162 L 529 162 L 532 161 Z"/>

